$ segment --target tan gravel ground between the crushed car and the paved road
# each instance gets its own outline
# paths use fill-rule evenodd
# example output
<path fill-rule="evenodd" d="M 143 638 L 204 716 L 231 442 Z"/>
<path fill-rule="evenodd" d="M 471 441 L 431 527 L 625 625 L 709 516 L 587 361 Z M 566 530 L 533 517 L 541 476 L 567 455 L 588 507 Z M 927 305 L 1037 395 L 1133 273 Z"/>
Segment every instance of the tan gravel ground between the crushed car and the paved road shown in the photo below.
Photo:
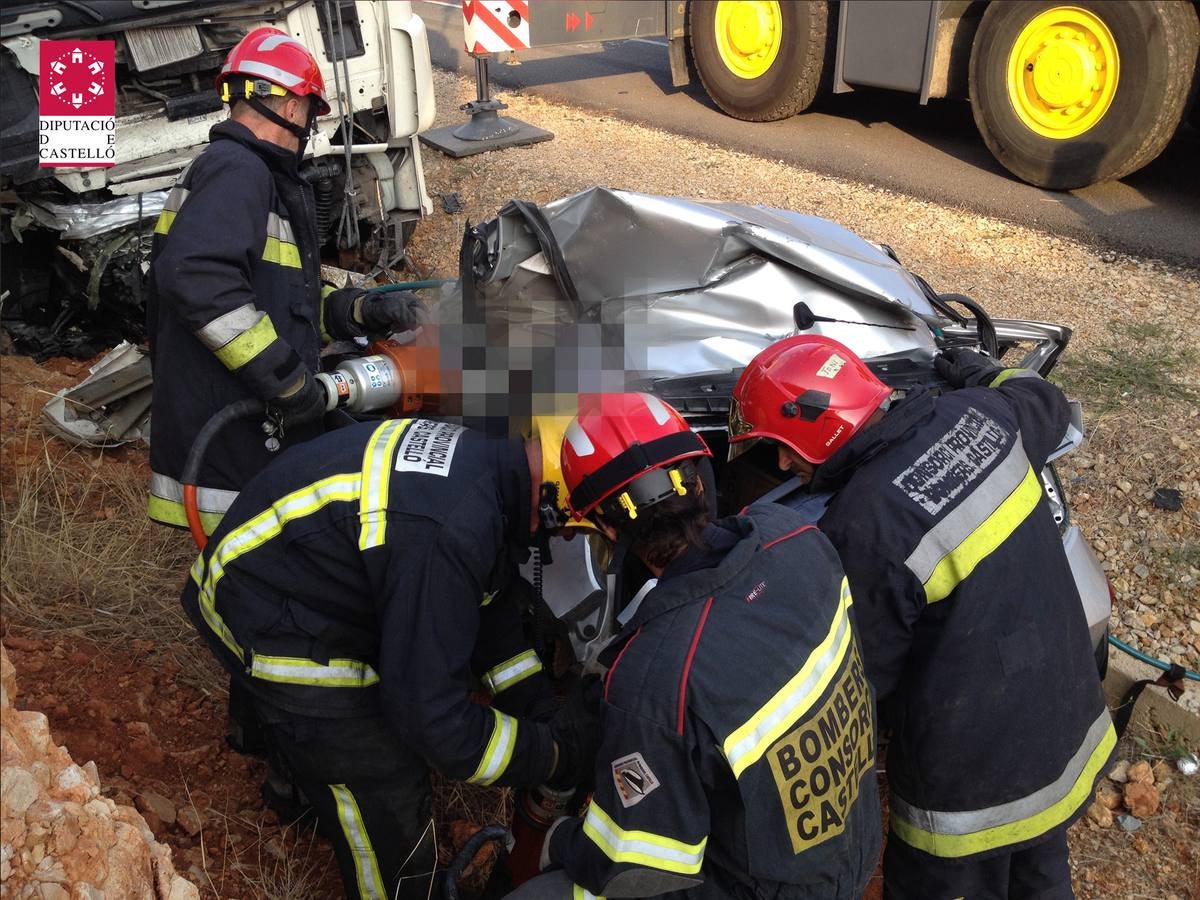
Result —
<path fill-rule="evenodd" d="M 434 84 L 437 125 L 461 121 L 473 83 L 436 71 Z M 506 200 L 546 203 L 602 184 L 824 216 L 889 244 L 936 289 L 970 294 L 992 316 L 1075 329 L 1056 374 L 1084 401 L 1090 440 L 1060 474 L 1112 580 L 1114 634 L 1200 668 L 1200 271 L 520 92 L 503 100 L 556 138 L 466 160 L 424 148 L 437 210 L 418 228 L 413 253 L 431 274 L 454 277 L 463 226 Z M 463 211 L 448 215 L 437 197 L 451 191 Z M 1180 491 L 1182 509 L 1156 508 L 1160 487 Z"/>

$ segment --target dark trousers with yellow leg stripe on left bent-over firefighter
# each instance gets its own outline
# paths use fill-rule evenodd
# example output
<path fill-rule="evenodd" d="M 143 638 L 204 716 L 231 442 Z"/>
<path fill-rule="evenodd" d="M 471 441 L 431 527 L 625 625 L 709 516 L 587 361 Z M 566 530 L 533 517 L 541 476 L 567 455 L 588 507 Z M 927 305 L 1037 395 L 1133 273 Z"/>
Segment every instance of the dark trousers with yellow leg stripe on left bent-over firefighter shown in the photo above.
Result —
<path fill-rule="evenodd" d="M 317 719 L 258 703 L 272 764 L 334 845 L 346 896 L 430 896 L 436 839 L 428 767 L 383 716 Z"/>

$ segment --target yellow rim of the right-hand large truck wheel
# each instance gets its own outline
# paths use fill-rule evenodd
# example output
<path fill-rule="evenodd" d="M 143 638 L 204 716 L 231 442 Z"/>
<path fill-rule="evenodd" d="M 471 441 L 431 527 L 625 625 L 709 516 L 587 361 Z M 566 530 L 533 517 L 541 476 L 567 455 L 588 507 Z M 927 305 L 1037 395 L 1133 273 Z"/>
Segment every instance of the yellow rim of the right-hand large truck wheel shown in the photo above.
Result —
<path fill-rule="evenodd" d="M 1120 73 L 1108 25 L 1087 10 L 1056 6 L 1018 35 L 1008 55 L 1008 98 L 1030 131 L 1066 140 L 1104 118 Z"/>

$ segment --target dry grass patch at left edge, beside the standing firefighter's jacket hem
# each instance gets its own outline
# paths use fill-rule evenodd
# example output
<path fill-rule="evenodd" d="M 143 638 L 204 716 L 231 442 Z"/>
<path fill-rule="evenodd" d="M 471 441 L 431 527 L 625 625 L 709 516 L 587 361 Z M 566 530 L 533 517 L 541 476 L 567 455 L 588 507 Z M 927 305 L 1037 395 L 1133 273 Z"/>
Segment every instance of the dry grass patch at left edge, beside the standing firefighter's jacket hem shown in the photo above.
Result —
<path fill-rule="evenodd" d="M 196 550 L 145 515 L 146 486 L 128 466 L 42 440 L 0 498 L 7 624 L 95 641 L 191 642 L 179 605 Z"/>

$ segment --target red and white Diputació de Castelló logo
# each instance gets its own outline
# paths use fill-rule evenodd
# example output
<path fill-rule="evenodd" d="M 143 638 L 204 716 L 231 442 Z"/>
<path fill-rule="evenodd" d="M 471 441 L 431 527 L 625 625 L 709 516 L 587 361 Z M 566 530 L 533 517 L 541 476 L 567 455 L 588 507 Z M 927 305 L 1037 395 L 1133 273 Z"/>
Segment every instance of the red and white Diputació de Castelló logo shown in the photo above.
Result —
<path fill-rule="evenodd" d="M 116 164 L 116 52 L 112 41 L 38 44 L 38 164 L 104 168 Z"/>

